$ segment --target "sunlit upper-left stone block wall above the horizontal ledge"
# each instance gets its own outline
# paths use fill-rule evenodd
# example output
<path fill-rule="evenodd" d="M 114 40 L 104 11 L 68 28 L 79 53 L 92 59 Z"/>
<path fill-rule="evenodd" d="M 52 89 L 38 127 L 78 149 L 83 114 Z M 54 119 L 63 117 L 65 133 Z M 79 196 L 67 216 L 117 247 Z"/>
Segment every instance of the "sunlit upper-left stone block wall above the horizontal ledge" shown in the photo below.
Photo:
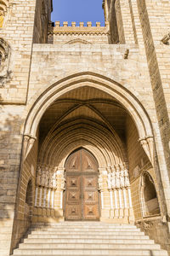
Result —
<path fill-rule="evenodd" d="M 13 1 L 8 20 L 0 29 L 11 49 L 8 79 L 1 84 L 0 102 L 25 103 L 31 64 L 36 0 Z"/>

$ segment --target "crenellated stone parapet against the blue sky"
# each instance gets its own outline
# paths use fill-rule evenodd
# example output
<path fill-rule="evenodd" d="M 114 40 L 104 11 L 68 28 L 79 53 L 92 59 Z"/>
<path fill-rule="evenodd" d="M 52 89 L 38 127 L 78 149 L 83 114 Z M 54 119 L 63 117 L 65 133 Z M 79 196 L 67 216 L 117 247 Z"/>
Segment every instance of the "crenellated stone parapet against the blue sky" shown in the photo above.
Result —
<path fill-rule="evenodd" d="M 100 26 L 100 22 L 96 22 L 96 26 L 92 26 L 92 22 L 88 21 L 87 26 L 84 26 L 84 22 L 80 22 L 77 26 L 76 22 L 71 22 L 71 26 L 68 26 L 68 22 L 63 22 L 61 26 L 60 21 L 55 22 L 55 26 L 49 28 L 49 34 L 108 34 L 109 22 L 105 22 L 105 26 Z"/>

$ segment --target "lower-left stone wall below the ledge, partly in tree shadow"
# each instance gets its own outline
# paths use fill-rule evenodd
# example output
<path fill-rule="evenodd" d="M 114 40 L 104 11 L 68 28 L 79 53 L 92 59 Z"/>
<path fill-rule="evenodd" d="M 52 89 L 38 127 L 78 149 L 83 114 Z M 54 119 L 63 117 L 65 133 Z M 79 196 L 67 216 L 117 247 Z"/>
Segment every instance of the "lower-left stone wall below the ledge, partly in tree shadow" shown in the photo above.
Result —
<path fill-rule="evenodd" d="M 0 255 L 8 255 L 20 172 L 23 120 L 14 106 L 0 107 Z M 15 109 L 20 110 L 20 106 Z"/>

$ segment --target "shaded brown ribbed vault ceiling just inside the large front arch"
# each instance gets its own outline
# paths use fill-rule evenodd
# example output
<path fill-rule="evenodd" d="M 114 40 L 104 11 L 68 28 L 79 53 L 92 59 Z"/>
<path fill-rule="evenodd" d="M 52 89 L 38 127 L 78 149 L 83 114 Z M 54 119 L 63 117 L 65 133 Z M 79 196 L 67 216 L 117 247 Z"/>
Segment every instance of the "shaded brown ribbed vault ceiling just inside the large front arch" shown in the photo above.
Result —
<path fill-rule="evenodd" d="M 66 93 L 44 113 L 39 126 L 40 145 L 55 124 L 59 127 L 80 118 L 114 129 L 125 141 L 127 111 L 105 92 L 87 86 Z"/>

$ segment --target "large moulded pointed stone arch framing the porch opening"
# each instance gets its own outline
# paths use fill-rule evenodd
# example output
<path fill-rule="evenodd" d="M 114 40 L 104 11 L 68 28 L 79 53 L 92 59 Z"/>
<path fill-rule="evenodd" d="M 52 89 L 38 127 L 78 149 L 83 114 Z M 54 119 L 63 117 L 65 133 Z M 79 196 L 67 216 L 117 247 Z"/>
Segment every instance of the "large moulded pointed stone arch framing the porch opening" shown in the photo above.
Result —
<path fill-rule="evenodd" d="M 37 100 L 33 100 L 31 104 L 31 110 L 26 119 L 25 133 L 31 135 L 31 137 L 36 137 L 37 125 L 47 108 L 56 101 L 59 96 L 83 86 L 103 90 L 110 96 L 116 98 L 116 101 L 120 102 L 132 116 L 139 131 L 139 137 L 144 138 L 152 136 L 149 116 L 136 96 L 116 81 L 97 73 L 89 72 L 77 73 L 65 79 L 61 79 L 57 83 L 49 86 L 47 90 L 41 92 Z"/>

